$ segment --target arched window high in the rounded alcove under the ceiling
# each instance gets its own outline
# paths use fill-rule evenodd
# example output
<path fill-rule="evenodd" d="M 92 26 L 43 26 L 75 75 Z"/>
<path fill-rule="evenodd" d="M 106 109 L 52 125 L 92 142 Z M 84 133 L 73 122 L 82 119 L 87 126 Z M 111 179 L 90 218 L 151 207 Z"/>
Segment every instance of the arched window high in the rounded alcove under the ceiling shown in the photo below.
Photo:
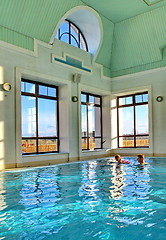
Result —
<path fill-rule="evenodd" d="M 88 45 L 81 30 L 67 19 L 61 24 L 56 38 L 88 52 Z"/>

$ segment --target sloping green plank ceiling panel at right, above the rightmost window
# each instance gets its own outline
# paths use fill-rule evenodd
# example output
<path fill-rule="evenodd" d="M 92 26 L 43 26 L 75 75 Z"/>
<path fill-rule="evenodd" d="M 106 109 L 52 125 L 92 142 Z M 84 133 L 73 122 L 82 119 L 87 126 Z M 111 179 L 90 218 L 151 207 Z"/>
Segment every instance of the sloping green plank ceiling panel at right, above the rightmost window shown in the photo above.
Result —
<path fill-rule="evenodd" d="M 166 65 L 166 6 L 115 24 L 111 75 Z"/>

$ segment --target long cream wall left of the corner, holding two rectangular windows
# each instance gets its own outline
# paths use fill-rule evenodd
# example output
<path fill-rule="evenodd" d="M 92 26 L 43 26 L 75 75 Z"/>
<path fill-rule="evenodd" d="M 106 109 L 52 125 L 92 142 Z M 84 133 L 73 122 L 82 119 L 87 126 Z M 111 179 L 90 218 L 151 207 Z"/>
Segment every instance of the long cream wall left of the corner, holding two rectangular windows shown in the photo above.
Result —
<path fill-rule="evenodd" d="M 63 49 L 63 50 L 62 50 Z M 65 59 L 70 56 L 82 61 L 91 73 L 63 63 L 52 61 L 53 56 Z M 104 150 L 81 151 L 80 97 L 82 90 L 103 96 L 104 119 L 110 122 L 110 78 L 102 74 L 102 66 L 92 63 L 91 55 L 71 45 L 56 41 L 54 46 L 35 40 L 34 52 L 0 42 L 0 168 L 38 166 L 59 162 L 76 161 L 92 156 L 108 156 L 110 125 L 104 124 Z M 80 73 L 80 83 L 73 82 L 73 74 Z M 60 97 L 60 153 L 22 156 L 21 153 L 21 78 L 59 86 Z M 9 82 L 12 89 L 5 92 L 2 84 Z"/>

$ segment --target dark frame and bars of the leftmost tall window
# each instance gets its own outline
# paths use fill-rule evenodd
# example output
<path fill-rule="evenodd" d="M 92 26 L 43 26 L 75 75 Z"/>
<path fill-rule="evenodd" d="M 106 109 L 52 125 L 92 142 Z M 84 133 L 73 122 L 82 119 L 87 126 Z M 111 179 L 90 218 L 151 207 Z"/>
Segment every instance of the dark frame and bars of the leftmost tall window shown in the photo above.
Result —
<path fill-rule="evenodd" d="M 25 83 L 32 83 L 35 84 L 35 93 L 29 93 L 29 92 L 23 92 L 21 89 L 21 97 L 22 96 L 31 96 L 35 97 L 35 103 L 36 103 L 36 136 L 35 137 L 23 137 L 21 134 L 21 139 L 22 140 L 36 140 L 36 152 L 26 152 L 24 153 L 22 151 L 22 155 L 32 155 L 32 154 L 45 154 L 45 153 L 58 153 L 59 152 L 59 146 L 60 146 L 60 139 L 59 139 L 59 97 L 58 97 L 58 87 L 52 84 L 46 84 L 46 83 L 41 83 L 41 82 L 36 82 L 36 81 L 31 81 L 29 79 L 22 78 L 21 79 L 21 84 L 22 82 Z M 56 89 L 56 97 L 52 96 L 47 96 L 47 95 L 42 95 L 39 94 L 39 86 L 45 86 L 45 87 L 51 87 Z M 57 136 L 46 136 L 46 137 L 39 137 L 38 136 L 38 99 L 50 99 L 50 100 L 55 100 L 57 103 L 57 114 L 56 114 L 56 124 L 57 124 Z M 22 108 L 21 108 L 22 110 Z M 21 120 L 22 121 L 22 120 Z M 56 151 L 45 151 L 45 152 L 39 152 L 39 140 L 56 140 L 57 142 L 57 150 Z"/>

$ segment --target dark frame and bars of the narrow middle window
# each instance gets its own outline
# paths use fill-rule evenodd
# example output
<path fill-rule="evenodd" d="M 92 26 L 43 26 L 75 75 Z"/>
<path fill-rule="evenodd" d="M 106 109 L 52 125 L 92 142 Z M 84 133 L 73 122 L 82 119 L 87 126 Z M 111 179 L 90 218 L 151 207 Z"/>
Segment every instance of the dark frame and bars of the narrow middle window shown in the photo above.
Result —
<path fill-rule="evenodd" d="M 100 133 L 100 136 L 93 136 L 94 139 L 101 139 L 101 145 L 100 145 L 100 148 L 94 148 L 94 150 L 96 149 L 103 149 L 103 129 L 102 129 L 102 96 L 100 95 L 97 95 L 97 94 L 91 94 L 91 93 L 87 93 L 87 92 L 81 92 L 81 95 L 84 94 L 86 95 L 86 102 L 82 102 L 81 101 L 81 107 L 82 105 L 86 106 L 86 113 L 87 113 L 87 136 L 86 137 L 83 137 L 82 136 L 82 126 L 81 126 L 81 140 L 83 139 L 86 139 L 87 140 L 87 148 L 86 149 L 83 149 L 82 148 L 82 151 L 87 151 L 87 150 L 90 150 L 90 138 L 91 136 L 89 136 L 89 117 L 88 117 L 88 106 L 90 106 L 92 103 L 89 102 L 89 96 L 92 96 L 92 97 L 97 97 L 97 98 L 100 98 L 100 104 L 93 104 L 94 107 L 99 107 L 100 108 L 100 129 L 101 129 L 101 133 Z M 81 111 L 81 119 L 82 119 L 82 111 Z"/>

